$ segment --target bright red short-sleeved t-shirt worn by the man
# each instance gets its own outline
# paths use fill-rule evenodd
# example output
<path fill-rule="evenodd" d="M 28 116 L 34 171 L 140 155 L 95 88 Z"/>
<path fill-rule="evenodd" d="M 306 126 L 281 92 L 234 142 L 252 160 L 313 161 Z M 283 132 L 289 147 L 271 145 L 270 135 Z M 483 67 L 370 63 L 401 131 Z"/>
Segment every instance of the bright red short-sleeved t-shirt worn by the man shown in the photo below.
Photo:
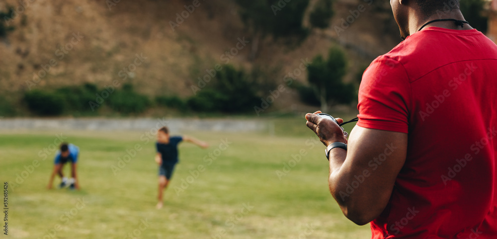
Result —
<path fill-rule="evenodd" d="M 373 239 L 497 239 L 496 44 L 475 29 L 417 32 L 371 63 L 357 107 L 357 125 L 408 134 Z"/>

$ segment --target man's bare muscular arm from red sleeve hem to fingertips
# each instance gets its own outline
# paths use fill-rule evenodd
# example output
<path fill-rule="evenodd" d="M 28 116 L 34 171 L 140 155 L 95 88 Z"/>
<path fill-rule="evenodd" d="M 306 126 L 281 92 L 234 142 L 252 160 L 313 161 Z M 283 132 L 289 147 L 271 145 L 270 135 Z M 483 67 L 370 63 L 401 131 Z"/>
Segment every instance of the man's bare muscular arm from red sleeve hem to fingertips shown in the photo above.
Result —
<path fill-rule="evenodd" d="M 306 119 L 308 127 L 325 145 L 347 143 L 333 121 L 315 114 L 306 115 Z M 330 192 L 348 219 L 364 225 L 385 209 L 406 160 L 407 139 L 405 133 L 356 126 L 350 134 L 347 151 L 340 148 L 330 151 Z M 352 182 L 358 186 L 347 190 Z"/>

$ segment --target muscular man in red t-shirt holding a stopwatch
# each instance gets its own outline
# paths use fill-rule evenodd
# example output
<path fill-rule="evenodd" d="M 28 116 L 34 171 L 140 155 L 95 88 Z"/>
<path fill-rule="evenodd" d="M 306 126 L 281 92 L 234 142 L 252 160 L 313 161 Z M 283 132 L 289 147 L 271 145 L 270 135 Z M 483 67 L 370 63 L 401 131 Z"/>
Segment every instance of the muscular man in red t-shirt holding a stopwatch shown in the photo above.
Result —
<path fill-rule="evenodd" d="M 497 46 L 457 0 L 391 5 L 405 41 L 365 71 L 348 146 L 306 115 L 331 194 L 373 239 L 497 239 Z"/>

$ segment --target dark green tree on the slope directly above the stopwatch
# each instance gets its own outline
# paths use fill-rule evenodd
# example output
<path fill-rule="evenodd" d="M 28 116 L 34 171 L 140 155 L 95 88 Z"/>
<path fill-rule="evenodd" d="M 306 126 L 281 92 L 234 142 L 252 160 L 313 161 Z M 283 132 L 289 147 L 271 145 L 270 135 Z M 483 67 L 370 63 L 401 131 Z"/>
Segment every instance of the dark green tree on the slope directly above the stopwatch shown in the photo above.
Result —
<path fill-rule="evenodd" d="M 344 52 L 332 47 L 328 52 L 328 61 L 323 56 L 314 58 L 308 68 L 308 80 L 321 102 L 321 109 L 328 110 L 328 103 L 349 103 L 354 98 L 352 83 L 343 83 L 347 60 Z"/>

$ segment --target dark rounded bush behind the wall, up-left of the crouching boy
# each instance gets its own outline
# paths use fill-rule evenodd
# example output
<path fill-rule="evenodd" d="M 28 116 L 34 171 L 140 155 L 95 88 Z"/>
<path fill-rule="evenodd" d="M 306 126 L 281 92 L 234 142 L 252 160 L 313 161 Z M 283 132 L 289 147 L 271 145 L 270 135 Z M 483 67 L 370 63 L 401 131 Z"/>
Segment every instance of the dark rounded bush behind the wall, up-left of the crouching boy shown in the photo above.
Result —
<path fill-rule="evenodd" d="M 24 101 L 37 115 L 60 115 L 64 111 L 64 97 L 56 92 L 33 89 L 24 94 Z"/>

